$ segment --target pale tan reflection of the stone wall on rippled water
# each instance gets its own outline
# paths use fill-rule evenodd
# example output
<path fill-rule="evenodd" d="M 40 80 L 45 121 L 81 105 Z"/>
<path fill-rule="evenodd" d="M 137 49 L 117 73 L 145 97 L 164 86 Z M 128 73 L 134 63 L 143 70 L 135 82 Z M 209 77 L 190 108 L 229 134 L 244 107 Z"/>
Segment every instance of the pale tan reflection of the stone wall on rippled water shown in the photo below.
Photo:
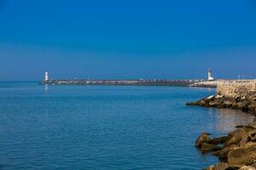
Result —
<path fill-rule="evenodd" d="M 216 128 L 222 133 L 229 133 L 237 125 L 253 122 L 253 116 L 242 111 L 219 109 L 217 111 Z"/>

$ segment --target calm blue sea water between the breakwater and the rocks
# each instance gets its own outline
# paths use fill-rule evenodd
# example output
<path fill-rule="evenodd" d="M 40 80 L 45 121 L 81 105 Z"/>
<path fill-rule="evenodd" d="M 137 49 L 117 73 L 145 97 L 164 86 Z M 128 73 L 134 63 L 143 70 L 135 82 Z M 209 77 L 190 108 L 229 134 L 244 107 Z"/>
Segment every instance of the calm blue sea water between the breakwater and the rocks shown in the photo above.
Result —
<path fill-rule="evenodd" d="M 189 107 L 207 88 L 0 83 L 0 169 L 202 169 L 202 131 L 222 135 L 253 117 Z"/>

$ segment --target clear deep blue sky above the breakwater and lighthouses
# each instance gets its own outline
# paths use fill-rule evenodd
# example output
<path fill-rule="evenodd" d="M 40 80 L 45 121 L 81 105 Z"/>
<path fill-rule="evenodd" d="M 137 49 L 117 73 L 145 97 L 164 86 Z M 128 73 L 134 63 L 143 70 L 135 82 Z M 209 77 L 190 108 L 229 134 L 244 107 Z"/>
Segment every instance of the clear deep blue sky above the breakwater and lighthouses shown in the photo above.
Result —
<path fill-rule="evenodd" d="M 256 78 L 255 0 L 0 0 L 0 81 Z"/>

